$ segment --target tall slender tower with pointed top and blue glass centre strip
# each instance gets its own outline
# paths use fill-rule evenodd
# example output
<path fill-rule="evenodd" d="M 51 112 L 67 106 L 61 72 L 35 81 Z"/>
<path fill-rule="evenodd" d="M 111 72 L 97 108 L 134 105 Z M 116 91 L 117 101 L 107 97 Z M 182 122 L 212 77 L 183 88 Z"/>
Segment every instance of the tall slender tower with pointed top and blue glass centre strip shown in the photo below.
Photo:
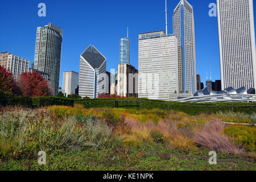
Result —
<path fill-rule="evenodd" d="M 181 0 L 174 10 L 174 35 L 178 42 L 179 91 L 196 92 L 196 46 L 193 7 Z"/>

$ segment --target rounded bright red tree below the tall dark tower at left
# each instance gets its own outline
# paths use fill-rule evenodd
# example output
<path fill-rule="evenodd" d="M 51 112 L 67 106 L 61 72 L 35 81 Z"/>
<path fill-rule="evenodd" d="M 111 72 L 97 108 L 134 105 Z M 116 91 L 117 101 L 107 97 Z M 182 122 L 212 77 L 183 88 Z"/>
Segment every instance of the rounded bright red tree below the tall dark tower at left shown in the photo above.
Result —
<path fill-rule="evenodd" d="M 18 78 L 18 86 L 24 96 L 50 96 L 51 86 L 39 73 L 22 73 Z"/>

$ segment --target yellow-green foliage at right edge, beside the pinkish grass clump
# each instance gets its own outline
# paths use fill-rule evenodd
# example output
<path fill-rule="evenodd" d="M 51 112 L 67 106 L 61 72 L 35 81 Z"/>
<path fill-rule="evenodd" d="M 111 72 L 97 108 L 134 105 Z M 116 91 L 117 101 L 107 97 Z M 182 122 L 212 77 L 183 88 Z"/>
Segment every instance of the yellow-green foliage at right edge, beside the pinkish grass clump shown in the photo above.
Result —
<path fill-rule="evenodd" d="M 226 127 L 224 133 L 233 138 L 236 144 L 245 144 L 245 148 L 255 150 L 256 127 L 232 125 Z"/>

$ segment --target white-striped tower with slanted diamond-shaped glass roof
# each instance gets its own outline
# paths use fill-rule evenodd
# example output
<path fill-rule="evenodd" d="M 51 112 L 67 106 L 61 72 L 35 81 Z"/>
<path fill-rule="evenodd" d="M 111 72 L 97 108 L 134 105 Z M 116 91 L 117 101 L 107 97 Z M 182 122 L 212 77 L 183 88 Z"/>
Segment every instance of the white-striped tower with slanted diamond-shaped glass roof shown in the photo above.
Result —
<path fill-rule="evenodd" d="M 80 56 L 79 95 L 97 98 L 106 92 L 106 58 L 89 46 Z"/>

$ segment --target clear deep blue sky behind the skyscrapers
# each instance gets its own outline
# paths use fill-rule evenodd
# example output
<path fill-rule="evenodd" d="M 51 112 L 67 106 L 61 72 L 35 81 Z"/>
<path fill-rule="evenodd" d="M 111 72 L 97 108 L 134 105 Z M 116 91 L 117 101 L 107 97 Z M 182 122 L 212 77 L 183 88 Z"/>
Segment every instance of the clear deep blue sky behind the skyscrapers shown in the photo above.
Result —
<path fill-rule="evenodd" d="M 38 16 L 38 4 L 46 4 L 46 17 Z M 217 17 L 208 15 L 208 5 L 216 0 L 188 0 L 193 6 L 196 36 L 196 68 L 205 83 L 206 72 L 220 79 Z M 172 34 L 172 14 L 179 0 L 167 0 L 168 34 Z M 256 14 L 254 2 L 254 15 Z M 36 27 L 49 22 L 63 28 L 60 86 L 64 71 L 79 72 L 81 53 L 92 44 L 107 58 L 107 70 L 119 64 L 119 39 L 127 26 L 131 39 L 131 64 L 138 68 L 138 34 L 165 30 L 164 0 L 57 1 L 1 0 L 0 51 L 34 62 Z M 255 16 L 254 21 L 256 22 Z M 208 74 L 209 76 L 209 74 Z"/>

